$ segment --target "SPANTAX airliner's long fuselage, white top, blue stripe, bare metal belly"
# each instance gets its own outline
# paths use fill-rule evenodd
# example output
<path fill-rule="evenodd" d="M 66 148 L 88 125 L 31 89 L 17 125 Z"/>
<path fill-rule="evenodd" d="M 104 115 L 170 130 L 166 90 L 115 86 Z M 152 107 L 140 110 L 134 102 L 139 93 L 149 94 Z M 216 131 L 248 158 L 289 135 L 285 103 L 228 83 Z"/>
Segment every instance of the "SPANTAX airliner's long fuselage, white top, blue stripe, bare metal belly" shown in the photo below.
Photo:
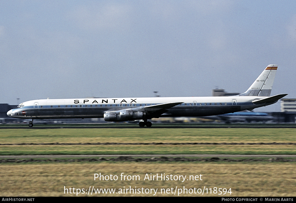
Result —
<path fill-rule="evenodd" d="M 218 96 L 218 97 L 126 97 L 126 98 L 85 98 L 85 99 L 39 99 L 23 102 L 19 108 L 7 114 L 23 119 L 51 118 L 102 118 L 104 113 L 136 109 L 139 107 L 182 102 L 166 109 L 158 117 L 212 116 L 266 106 L 255 105 L 254 100 L 262 96 Z M 274 102 L 273 102 L 274 103 Z M 272 103 L 270 103 L 272 104 Z"/>

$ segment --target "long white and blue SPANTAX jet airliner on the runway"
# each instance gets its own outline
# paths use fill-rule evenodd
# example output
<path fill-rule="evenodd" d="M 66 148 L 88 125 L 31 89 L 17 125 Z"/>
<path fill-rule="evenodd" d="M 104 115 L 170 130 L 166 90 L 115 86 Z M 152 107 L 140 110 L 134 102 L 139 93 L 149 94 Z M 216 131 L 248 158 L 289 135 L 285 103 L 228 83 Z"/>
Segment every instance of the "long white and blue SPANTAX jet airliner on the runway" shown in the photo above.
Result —
<path fill-rule="evenodd" d="M 268 65 L 246 92 L 236 96 L 208 97 L 125 97 L 85 99 L 38 99 L 23 102 L 7 115 L 33 119 L 104 118 L 109 122 L 135 121 L 140 127 L 151 127 L 147 121 L 159 117 L 203 117 L 276 103 L 287 94 L 270 96 L 277 65 Z"/>

